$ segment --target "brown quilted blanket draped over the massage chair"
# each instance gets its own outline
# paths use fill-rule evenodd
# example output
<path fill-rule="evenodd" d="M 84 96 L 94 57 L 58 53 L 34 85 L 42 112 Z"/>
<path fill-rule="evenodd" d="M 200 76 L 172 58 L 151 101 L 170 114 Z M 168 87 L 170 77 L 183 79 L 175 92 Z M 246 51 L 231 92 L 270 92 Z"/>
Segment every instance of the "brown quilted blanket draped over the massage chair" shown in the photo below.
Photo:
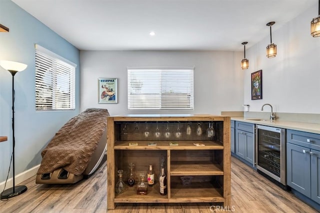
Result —
<path fill-rule="evenodd" d="M 81 175 L 106 128 L 107 116 L 106 109 L 89 108 L 71 118 L 41 152 L 37 174 L 63 168 L 71 174 Z"/>

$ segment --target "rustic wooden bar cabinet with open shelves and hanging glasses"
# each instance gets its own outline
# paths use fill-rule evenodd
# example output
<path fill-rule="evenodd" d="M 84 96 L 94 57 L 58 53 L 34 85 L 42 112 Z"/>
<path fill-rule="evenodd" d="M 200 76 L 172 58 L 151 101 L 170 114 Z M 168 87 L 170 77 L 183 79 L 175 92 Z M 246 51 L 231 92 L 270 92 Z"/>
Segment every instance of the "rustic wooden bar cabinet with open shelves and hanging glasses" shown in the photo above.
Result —
<path fill-rule="evenodd" d="M 151 142 L 156 145 L 148 145 Z M 131 146 L 132 143 L 135 145 Z M 165 196 L 160 195 L 157 181 L 163 162 L 167 175 Z M 129 163 L 135 164 L 135 185 L 126 186 L 124 193 L 116 194 L 117 171 L 124 171 L 123 181 L 127 184 Z M 148 187 L 147 195 L 137 195 L 139 172 L 146 174 L 149 165 L 155 173 L 155 185 Z M 108 210 L 113 210 L 117 203 L 219 203 L 228 208 L 230 172 L 230 117 L 126 115 L 107 118 Z"/>

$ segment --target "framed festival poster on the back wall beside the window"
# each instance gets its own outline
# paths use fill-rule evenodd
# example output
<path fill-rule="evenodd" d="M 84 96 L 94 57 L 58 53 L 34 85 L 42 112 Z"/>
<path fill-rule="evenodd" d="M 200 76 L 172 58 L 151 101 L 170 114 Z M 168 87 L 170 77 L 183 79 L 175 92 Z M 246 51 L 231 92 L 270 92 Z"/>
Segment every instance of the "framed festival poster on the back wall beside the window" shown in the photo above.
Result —
<path fill-rule="evenodd" d="M 98 78 L 98 103 L 116 104 L 117 102 L 117 78 Z"/>

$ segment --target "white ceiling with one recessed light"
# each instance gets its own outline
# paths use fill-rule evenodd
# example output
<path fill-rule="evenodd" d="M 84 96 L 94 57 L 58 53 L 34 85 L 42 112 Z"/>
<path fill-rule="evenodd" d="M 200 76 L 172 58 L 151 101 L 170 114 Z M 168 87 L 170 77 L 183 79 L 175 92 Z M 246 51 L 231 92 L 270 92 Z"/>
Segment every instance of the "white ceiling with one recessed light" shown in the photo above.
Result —
<path fill-rule="evenodd" d="M 241 51 L 318 0 L 12 1 L 80 50 Z"/>

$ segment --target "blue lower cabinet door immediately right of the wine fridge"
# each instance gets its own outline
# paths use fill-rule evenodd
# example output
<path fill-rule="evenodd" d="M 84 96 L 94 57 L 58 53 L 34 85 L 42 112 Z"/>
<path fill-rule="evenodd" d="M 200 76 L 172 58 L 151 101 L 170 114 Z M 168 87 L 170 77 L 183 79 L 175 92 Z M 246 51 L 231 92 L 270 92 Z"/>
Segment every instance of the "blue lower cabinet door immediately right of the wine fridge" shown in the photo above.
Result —
<path fill-rule="evenodd" d="M 309 151 L 301 146 L 286 144 L 287 185 L 308 198 L 311 196 Z"/>

